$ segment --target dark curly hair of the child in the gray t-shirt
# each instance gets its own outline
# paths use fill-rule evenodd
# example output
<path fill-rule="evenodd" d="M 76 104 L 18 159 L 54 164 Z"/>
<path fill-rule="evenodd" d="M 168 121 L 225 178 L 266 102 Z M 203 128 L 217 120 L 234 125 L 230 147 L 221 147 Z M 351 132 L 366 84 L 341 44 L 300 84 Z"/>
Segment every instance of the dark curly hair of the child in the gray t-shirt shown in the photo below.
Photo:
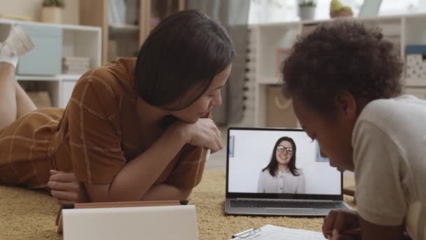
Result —
<path fill-rule="evenodd" d="M 282 91 L 288 98 L 300 96 L 317 112 L 332 114 L 341 91 L 367 102 L 398 95 L 402 68 L 380 29 L 339 20 L 298 37 L 282 65 Z"/>

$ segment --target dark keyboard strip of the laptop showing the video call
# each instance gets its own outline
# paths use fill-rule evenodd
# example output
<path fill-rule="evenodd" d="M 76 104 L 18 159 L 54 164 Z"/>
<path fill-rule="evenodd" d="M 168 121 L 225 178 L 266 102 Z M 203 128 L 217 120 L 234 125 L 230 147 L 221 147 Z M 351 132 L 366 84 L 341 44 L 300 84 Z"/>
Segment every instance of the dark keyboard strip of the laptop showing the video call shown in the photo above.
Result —
<path fill-rule="evenodd" d="M 233 208 L 346 208 L 341 202 L 231 200 Z"/>

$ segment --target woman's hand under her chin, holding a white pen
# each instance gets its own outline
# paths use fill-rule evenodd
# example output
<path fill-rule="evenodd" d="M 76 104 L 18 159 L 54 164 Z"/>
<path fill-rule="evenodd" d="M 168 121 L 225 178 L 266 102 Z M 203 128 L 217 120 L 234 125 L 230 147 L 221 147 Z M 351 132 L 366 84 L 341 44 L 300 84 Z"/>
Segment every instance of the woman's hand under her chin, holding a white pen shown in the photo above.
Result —
<path fill-rule="evenodd" d="M 212 153 L 224 148 L 221 131 L 219 131 L 212 119 L 198 119 L 195 124 L 177 121 L 173 127 L 186 135 L 188 144 L 206 147 L 211 149 Z"/>

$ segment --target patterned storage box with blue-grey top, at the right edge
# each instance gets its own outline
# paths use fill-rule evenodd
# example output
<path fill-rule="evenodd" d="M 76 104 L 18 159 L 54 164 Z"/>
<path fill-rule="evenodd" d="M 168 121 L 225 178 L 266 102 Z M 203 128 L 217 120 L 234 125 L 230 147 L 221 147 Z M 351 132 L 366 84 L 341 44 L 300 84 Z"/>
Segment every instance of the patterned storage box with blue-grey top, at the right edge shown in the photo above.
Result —
<path fill-rule="evenodd" d="M 406 84 L 426 86 L 426 45 L 406 46 Z"/>

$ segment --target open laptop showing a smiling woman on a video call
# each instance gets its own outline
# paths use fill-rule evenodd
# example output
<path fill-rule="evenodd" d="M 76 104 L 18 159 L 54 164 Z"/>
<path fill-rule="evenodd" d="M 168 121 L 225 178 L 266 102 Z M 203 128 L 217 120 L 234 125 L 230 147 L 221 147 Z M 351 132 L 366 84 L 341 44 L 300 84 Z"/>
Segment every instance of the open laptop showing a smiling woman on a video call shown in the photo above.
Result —
<path fill-rule="evenodd" d="M 228 128 L 227 142 L 226 214 L 324 216 L 350 209 L 343 173 L 303 130 Z"/>

